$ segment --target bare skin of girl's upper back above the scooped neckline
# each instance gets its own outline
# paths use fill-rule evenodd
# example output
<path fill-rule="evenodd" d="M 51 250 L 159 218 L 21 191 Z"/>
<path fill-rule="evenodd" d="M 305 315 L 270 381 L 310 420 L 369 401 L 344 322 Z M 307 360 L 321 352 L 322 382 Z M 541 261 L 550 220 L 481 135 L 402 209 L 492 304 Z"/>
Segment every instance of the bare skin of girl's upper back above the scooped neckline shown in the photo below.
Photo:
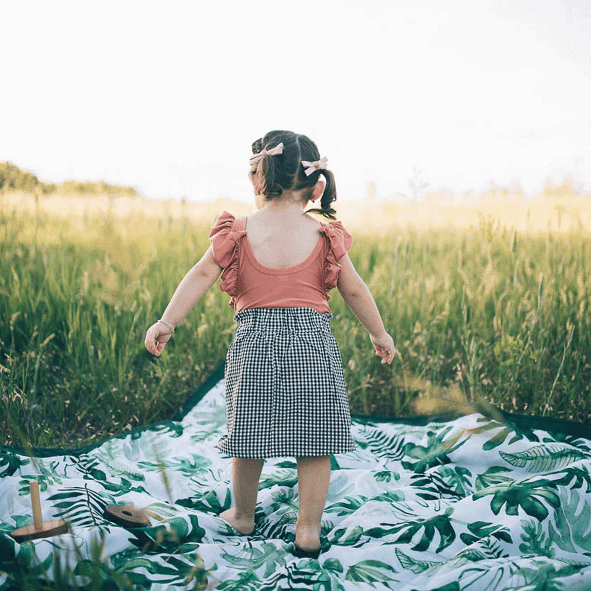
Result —
<path fill-rule="evenodd" d="M 301 207 L 258 210 L 246 218 L 248 245 L 256 260 L 271 269 L 296 267 L 312 254 L 319 241 L 320 222 Z"/>

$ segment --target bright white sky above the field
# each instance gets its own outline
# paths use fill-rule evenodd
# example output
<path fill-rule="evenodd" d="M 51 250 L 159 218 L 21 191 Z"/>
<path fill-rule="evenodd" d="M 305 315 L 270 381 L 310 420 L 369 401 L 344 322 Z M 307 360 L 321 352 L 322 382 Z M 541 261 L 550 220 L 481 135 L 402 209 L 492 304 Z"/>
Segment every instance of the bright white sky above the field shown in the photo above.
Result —
<path fill-rule="evenodd" d="M 316 141 L 339 199 L 569 174 L 591 190 L 589 0 L 2 2 L 0 161 L 252 200 L 251 142 Z"/>

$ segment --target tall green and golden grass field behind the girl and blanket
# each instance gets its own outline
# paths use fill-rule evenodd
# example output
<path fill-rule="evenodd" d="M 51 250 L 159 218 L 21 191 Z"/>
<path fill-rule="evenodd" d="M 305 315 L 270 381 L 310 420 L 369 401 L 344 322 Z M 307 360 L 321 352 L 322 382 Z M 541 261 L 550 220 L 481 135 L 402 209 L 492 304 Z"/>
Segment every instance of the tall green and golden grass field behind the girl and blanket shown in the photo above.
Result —
<path fill-rule="evenodd" d="M 362 205 L 339 219 L 399 355 L 382 366 L 332 292 L 353 413 L 482 401 L 591 424 L 591 198 Z M 212 288 L 160 359 L 144 334 L 223 209 L 252 207 L 0 196 L 0 444 L 80 446 L 176 413 L 225 358 L 228 297 Z"/>

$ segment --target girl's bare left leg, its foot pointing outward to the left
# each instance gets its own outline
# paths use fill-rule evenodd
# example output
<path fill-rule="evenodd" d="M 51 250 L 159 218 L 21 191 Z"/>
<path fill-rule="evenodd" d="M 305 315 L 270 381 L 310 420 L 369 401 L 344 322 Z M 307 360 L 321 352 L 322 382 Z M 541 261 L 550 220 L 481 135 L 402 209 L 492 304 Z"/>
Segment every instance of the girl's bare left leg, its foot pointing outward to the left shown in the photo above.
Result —
<path fill-rule="evenodd" d="M 241 534 L 251 534 L 255 528 L 256 495 L 264 463 L 265 460 L 232 458 L 234 506 L 220 513 L 220 517 Z"/>

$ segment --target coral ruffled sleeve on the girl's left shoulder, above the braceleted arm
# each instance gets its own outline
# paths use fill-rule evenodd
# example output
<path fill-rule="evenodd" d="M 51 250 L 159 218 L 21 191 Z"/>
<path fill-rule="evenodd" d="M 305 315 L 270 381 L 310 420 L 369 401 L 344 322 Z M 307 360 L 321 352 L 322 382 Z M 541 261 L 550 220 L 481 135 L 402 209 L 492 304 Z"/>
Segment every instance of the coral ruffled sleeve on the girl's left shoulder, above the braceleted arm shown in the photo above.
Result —
<path fill-rule="evenodd" d="M 209 233 L 213 259 L 223 269 L 220 290 L 232 298 L 232 307 L 238 284 L 238 243 L 246 235 L 246 230 L 236 228 L 239 225 L 241 224 L 236 223 L 236 218 L 231 213 L 223 212 Z"/>

